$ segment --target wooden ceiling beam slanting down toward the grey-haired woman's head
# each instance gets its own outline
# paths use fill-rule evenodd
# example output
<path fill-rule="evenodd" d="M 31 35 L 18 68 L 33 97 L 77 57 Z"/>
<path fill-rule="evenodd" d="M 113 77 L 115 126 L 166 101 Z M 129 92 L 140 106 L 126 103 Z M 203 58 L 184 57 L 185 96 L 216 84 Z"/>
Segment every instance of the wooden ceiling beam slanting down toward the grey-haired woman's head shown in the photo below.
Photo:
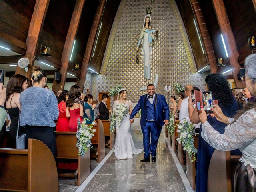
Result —
<path fill-rule="evenodd" d="M 236 40 L 234 38 L 234 34 L 228 19 L 228 14 L 226 12 L 226 8 L 223 0 L 214 0 L 212 1 L 216 17 L 218 20 L 218 24 L 220 26 L 220 31 L 223 35 L 224 41 L 226 42 L 226 47 L 228 51 L 228 56 L 230 58 L 230 64 L 232 66 L 232 74 L 234 77 L 234 81 L 237 87 L 244 87 L 245 84 L 238 81 L 240 65 L 238 63 L 239 53 L 236 46 Z"/>

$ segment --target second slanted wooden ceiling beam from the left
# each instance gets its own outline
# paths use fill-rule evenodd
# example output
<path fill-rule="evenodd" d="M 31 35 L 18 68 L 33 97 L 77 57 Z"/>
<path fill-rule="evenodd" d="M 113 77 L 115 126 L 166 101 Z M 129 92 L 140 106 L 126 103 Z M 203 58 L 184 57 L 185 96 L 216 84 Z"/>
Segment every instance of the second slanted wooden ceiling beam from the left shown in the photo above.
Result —
<path fill-rule="evenodd" d="M 52 90 L 54 90 L 56 93 L 58 92 L 58 90 L 64 89 L 70 54 L 71 54 L 72 46 L 74 44 L 74 40 L 76 38 L 76 33 L 80 23 L 82 10 L 84 8 L 84 2 L 85 0 L 76 0 L 76 4 L 74 7 L 74 11 L 72 14 L 72 18 L 68 28 L 68 33 L 66 36 L 66 41 L 65 41 L 62 56 L 61 56 L 61 64 L 62 64 L 60 68 L 61 81 L 57 82 L 54 80 L 52 85 Z"/>

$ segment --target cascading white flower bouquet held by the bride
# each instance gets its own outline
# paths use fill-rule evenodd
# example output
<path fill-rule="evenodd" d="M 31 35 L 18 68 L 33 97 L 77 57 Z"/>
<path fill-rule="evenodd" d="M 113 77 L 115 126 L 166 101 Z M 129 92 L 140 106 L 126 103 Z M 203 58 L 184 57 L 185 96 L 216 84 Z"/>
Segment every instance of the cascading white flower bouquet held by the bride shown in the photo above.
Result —
<path fill-rule="evenodd" d="M 114 112 L 110 115 L 110 133 L 113 133 L 116 130 L 116 120 L 118 122 L 118 126 L 120 127 L 122 121 L 124 120 L 124 116 L 127 116 L 129 112 L 129 108 L 124 103 L 116 104 Z"/>

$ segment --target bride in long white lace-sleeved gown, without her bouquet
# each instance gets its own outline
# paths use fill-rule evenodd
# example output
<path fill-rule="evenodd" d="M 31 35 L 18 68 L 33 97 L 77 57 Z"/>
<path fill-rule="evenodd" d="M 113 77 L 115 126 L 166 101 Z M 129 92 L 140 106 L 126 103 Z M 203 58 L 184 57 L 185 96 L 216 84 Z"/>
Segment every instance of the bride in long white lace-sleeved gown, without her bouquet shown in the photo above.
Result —
<path fill-rule="evenodd" d="M 128 107 L 128 112 L 124 116 L 120 126 L 116 119 L 116 142 L 115 142 L 115 155 L 118 160 L 132 158 L 143 152 L 143 149 L 136 149 L 130 133 L 130 113 L 132 112 L 132 102 L 127 99 L 127 92 L 124 88 L 119 90 L 118 100 L 114 102 L 114 113 L 116 112 L 117 105 L 125 104 Z"/>

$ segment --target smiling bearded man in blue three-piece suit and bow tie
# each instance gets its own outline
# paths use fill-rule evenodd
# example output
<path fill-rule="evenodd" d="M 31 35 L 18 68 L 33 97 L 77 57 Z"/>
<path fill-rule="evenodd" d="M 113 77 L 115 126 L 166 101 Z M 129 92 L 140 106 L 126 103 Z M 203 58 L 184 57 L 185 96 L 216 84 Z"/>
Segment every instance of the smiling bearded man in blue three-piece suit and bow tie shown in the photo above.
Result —
<path fill-rule="evenodd" d="M 155 93 L 155 86 L 148 84 L 148 94 L 140 96 L 138 104 L 132 110 L 130 123 L 134 121 L 134 116 L 141 109 L 140 126 L 143 134 L 144 159 L 141 162 L 150 162 L 150 152 L 152 162 L 156 161 L 156 147 L 162 126 L 169 123 L 169 107 L 163 95 Z M 151 134 L 151 136 L 150 136 Z M 151 143 L 150 143 L 151 137 Z"/>

